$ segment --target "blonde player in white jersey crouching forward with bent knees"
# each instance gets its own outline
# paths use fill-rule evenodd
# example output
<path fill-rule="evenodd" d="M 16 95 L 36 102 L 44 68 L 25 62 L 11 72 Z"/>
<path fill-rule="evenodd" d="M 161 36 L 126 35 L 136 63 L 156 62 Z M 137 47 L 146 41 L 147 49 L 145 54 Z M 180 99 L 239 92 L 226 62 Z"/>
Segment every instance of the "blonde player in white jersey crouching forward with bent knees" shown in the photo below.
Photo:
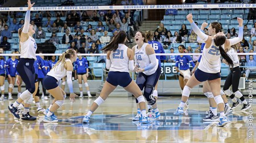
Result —
<path fill-rule="evenodd" d="M 72 63 L 75 62 L 76 58 L 76 51 L 74 49 L 68 49 L 62 54 L 62 57 L 58 60 L 51 71 L 49 71 L 44 77 L 42 82 L 43 86 L 54 97 L 52 104 L 45 112 L 46 116 L 44 116 L 44 122 L 58 122 L 57 117 L 53 113 L 63 105 L 64 99 L 66 98 L 66 93 L 57 84 L 61 78 L 67 76 L 67 83 L 70 92 L 69 99 L 71 102 L 75 101 L 75 97 L 77 97 L 77 95 L 73 92 Z"/>

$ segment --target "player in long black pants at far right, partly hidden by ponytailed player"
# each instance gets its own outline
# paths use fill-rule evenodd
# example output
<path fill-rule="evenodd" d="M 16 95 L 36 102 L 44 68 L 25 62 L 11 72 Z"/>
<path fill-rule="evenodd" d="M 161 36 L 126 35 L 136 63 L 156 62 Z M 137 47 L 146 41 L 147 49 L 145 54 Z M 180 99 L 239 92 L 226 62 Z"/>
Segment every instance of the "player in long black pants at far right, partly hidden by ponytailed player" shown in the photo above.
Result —
<path fill-rule="evenodd" d="M 230 73 L 228 77 L 226 77 L 223 90 L 233 101 L 232 109 L 236 108 L 237 105 L 239 104 L 239 101 L 237 101 L 237 98 L 239 98 L 243 103 L 243 107 L 241 111 L 245 111 L 249 109 L 251 106 L 246 101 L 245 97 L 243 97 L 243 94 L 238 90 L 238 85 L 241 77 L 241 70 L 239 66 L 239 59 L 236 53 L 237 53 L 236 49 L 228 48 L 228 54 L 230 55 L 230 58 L 233 60 L 234 66 L 233 67 L 230 66 Z M 225 59 L 223 59 L 222 62 L 227 64 Z M 231 85 L 232 85 L 233 92 L 229 89 Z"/>

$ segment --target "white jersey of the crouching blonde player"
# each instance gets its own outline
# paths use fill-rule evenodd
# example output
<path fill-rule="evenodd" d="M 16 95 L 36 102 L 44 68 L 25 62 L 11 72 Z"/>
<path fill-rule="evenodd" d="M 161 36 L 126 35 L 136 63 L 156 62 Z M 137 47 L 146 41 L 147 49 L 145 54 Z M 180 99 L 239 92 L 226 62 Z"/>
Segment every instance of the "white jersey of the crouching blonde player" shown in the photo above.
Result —
<path fill-rule="evenodd" d="M 65 59 L 65 62 L 70 61 L 70 59 Z M 67 76 L 67 70 L 63 67 L 64 64 L 59 63 L 55 68 L 52 68 L 51 71 L 47 73 L 48 76 L 54 77 L 57 81 L 60 81 L 63 77 Z M 63 67 L 63 71 L 62 70 Z"/>

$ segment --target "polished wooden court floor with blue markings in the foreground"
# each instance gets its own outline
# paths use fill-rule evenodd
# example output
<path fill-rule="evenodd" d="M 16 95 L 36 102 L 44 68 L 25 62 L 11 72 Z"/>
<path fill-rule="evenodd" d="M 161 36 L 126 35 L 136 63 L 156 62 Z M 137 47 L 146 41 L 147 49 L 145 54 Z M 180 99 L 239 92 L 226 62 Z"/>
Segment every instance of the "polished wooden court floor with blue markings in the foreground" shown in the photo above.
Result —
<path fill-rule="evenodd" d="M 161 116 L 152 124 L 132 122 L 137 107 L 134 98 L 108 98 L 91 116 L 90 124 L 82 118 L 96 98 L 65 100 L 57 110 L 58 123 L 44 123 L 43 115 L 36 121 L 14 120 L 7 110 L 9 103 L 0 102 L 0 142 L 256 142 L 256 119 L 249 131 L 248 112 L 237 107 L 228 115 L 230 124 L 217 127 L 217 122 L 203 122 L 208 101 L 204 97 L 191 97 L 184 115 L 173 115 L 179 97 L 160 97 Z M 253 100 L 256 103 L 256 99 Z M 40 101 L 48 107 L 50 101 Z M 35 106 L 35 105 L 33 105 Z M 253 107 L 255 118 L 256 107 Z M 32 107 L 31 115 L 37 115 Z M 252 139 L 251 139 L 252 138 Z"/>

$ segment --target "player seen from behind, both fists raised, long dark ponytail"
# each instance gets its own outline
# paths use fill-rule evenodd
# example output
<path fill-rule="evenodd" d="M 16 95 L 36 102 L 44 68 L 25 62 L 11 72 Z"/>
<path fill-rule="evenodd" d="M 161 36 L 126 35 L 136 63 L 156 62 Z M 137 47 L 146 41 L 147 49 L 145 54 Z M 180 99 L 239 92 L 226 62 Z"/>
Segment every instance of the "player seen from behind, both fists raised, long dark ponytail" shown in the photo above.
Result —
<path fill-rule="evenodd" d="M 223 32 L 218 32 L 215 36 L 207 36 L 200 31 L 192 18 L 192 14 L 187 15 L 187 19 L 189 23 L 191 23 L 193 31 L 195 31 L 201 40 L 205 41 L 205 47 L 203 50 L 201 62 L 199 63 L 199 68 L 195 71 L 195 73 L 188 80 L 188 83 L 185 85 L 180 105 L 177 107 L 175 112 L 183 112 L 183 107 L 185 101 L 187 101 L 189 97 L 191 88 L 199 85 L 203 81 L 208 80 L 214 99 L 217 103 L 218 109 L 220 110 L 220 119 L 218 125 L 224 126 L 226 123 L 228 123 L 228 120 L 226 119 L 224 113 L 224 101 L 220 95 L 220 56 L 222 55 L 226 62 L 230 66 L 233 66 L 232 59 L 230 59 L 229 55 L 225 53 L 225 50 L 222 47 L 237 44 L 242 40 L 242 36 L 239 36 L 234 40 L 226 40 L 225 34 Z M 239 31 L 242 31 L 243 20 L 240 18 L 237 20 L 240 26 Z M 212 25 L 209 26 L 209 29 L 211 28 Z"/>

